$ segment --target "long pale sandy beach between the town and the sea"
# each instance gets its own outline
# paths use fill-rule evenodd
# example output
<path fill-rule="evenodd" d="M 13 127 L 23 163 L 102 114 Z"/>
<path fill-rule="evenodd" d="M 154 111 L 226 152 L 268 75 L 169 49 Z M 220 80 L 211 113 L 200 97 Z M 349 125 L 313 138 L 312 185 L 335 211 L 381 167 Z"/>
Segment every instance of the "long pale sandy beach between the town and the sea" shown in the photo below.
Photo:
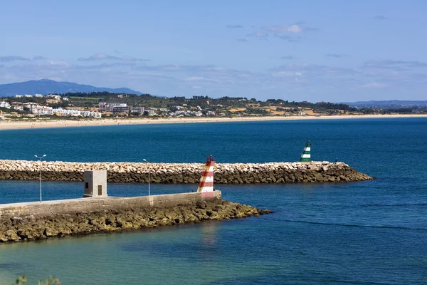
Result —
<path fill-rule="evenodd" d="M 32 128 L 67 128 L 93 127 L 106 125 L 150 125 L 172 123 L 218 123 L 218 122 L 260 122 L 270 120 L 342 120 L 342 119 L 376 119 L 376 118 L 427 118 L 421 115 L 337 115 L 337 116 L 262 116 L 241 118 L 114 118 L 92 120 L 36 120 L 36 121 L 2 121 L 0 130 L 20 130 Z"/>

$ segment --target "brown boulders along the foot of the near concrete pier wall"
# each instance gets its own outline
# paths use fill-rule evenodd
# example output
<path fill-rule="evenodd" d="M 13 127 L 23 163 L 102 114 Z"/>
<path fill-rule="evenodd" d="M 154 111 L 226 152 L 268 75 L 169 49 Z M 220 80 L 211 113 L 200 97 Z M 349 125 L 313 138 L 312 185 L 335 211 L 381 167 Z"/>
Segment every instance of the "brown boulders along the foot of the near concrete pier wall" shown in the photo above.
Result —
<path fill-rule="evenodd" d="M 0 242 L 21 242 L 48 237 L 117 232 L 207 220 L 236 219 L 271 213 L 226 200 L 196 202 L 176 207 L 139 207 L 76 214 L 0 218 Z"/>

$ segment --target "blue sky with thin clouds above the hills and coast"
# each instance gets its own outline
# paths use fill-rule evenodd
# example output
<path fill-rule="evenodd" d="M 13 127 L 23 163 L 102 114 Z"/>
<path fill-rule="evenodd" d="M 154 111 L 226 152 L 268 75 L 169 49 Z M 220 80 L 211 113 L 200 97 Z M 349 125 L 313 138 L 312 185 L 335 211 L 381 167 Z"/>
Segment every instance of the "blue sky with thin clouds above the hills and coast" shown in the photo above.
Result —
<path fill-rule="evenodd" d="M 0 84 L 427 100 L 427 1 L 5 1 Z"/>

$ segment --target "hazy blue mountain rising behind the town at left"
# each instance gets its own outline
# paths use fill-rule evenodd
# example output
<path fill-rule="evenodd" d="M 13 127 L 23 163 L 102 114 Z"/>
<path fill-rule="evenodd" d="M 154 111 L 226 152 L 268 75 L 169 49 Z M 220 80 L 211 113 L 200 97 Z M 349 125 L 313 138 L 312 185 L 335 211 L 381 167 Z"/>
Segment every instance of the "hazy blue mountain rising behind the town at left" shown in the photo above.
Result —
<path fill-rule="evenodd" d="M 83 85 L 71 82 L 58 82 L 48 79 L 41 79 L 38 81 L 26 81 L 19 83 L 0 84 L 0 97 L 14 96 L 16 94 L 43 94 L 48 93 L 73 93 L 73 92 L 102 92 L 107 91 L 110 93 L 127 93 L 141 95 L 141 92 L 129 88 L 104 88 L 95 87 L 90 85 Z"/>

